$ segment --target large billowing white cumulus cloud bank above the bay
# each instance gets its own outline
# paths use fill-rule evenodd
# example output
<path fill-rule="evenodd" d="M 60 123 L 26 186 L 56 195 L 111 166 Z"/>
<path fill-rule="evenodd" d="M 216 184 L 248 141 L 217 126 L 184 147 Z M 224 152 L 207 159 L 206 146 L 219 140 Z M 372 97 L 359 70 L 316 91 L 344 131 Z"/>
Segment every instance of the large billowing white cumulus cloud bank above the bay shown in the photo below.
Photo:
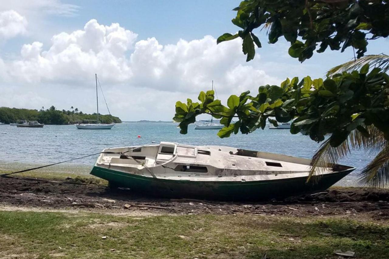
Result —
<path fill-rule="evenodd" d="M 216 45 L 214 37 L 205 36 L 165 46 L 156 38 L 136 40 L 136 33 L 118 23 L 106 26 L 92 19 L 83 30 L 54 35 L 47 51 L 40 42 L 23 45 L 9 71 L 26 82 L 82 85 L 98 73 L 109 84 L 186 92 L 209 88 L 211 80 L 224 92 L 278 82 L 244 63 L 240 40 Z"/>

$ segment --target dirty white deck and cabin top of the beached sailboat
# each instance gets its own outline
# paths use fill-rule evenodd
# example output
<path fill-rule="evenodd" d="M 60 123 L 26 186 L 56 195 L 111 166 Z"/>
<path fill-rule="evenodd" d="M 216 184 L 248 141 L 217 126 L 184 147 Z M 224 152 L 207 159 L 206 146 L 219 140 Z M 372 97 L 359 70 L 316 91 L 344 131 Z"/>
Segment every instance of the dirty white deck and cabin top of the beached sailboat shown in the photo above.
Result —
<path fill-rule="evenodd" d="M 105 149 L 96 166 L 145 177 L 191 181 L 259 181 L 307 177 L 310 159 L 267 152 L 250 156 L 224 146 L 192 146 L 171 142 Z M 255 155 L 255 156 L 254 156 Z M 321 168 L 321 174 L 334 173 Z"/>

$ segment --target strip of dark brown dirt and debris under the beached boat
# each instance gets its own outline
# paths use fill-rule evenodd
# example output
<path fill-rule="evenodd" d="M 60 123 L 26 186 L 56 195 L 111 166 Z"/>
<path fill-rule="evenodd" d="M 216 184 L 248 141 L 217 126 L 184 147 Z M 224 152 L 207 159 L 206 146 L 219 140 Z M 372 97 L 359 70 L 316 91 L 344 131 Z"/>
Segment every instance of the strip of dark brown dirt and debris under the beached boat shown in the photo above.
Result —
<path fill-rule="evenodd" d="M 71 180 L 70 180 L 71 181 Z M 67 180 L 69 182 L 69 180 Z M 0 205 L 33 208 L 87 208 L 167 214 L 258 214 L 294 217 L 344 215 L 389 219 L 389 190 L 329 189 L 286 200 L 242 203 L 144 197 L 126 189 L 45 180 L 0 177 Z"/>

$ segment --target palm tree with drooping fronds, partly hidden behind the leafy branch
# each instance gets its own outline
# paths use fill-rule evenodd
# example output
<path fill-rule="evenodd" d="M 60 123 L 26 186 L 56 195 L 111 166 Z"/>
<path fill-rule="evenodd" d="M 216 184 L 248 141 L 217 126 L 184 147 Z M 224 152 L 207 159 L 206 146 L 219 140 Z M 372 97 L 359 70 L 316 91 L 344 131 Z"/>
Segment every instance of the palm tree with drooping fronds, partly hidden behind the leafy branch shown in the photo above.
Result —
<path fill-rule="evenodd" d="M 381 68 L 382 72 L 387 72 L 389 70 L 389 56 L 385 54 L 367 55 L 356 61 L 346 62 L 331 68 L 328 70 L 327 76 L 359 70 L 366 64 L 369 64 L 370 68 L 378 67 Z M 319 167 L 320 172 L 320 168 L 337 164 L 338 160 L 347 156 L 352 149 L 363 148 L 366 152 L 377 152 L 378 154 L 363 168 L 359 175 L 359 182 L 374 187 L 384 187 L 389 184 L 389 141 L 385 139 L 384 133 L 375 126 L 364 125 L 364 127 L 368 130 L 369 137 L 354 130 L 338 147 L 331 147 L 329 139 L 324 141 L 312 158 L 309 178 L 315 174 L 316 167 Z"/>

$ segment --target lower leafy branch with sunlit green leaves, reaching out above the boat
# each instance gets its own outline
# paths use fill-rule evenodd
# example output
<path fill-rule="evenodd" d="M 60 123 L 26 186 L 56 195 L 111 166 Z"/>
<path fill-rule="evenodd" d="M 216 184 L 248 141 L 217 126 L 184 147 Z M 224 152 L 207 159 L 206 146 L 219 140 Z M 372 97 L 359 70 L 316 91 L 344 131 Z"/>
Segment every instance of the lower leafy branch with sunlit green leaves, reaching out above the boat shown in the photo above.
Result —
<path fill-rule="evenodd" d="M 227 106 L 215 100 L 214 91 L 201 92 L 199 102 L 187 99 L 177 101 L 175 121 L 180 122 L 180 133 L 186 134 L 189 124 L 200 114 L 211 114 L 221 119 L 224 128 L 217 135 L 229 137 L 232 133 L 251 133 L 264 129 L 266 121 L 294 121 L 291 133 L 309 135 L 321 142 L 331 134 L 329 143 L 337 147 L 353 130 L 368 137 L 366 126 L 373 125 L 389 140 L 389 76 L 364 65 L 360 72 L 336 74 L 332 78 L 301 81 L 297 77 L 286 79 L 280 86 L 260 86 L 256 95 L 244 92 L 231 95 Z"/>

